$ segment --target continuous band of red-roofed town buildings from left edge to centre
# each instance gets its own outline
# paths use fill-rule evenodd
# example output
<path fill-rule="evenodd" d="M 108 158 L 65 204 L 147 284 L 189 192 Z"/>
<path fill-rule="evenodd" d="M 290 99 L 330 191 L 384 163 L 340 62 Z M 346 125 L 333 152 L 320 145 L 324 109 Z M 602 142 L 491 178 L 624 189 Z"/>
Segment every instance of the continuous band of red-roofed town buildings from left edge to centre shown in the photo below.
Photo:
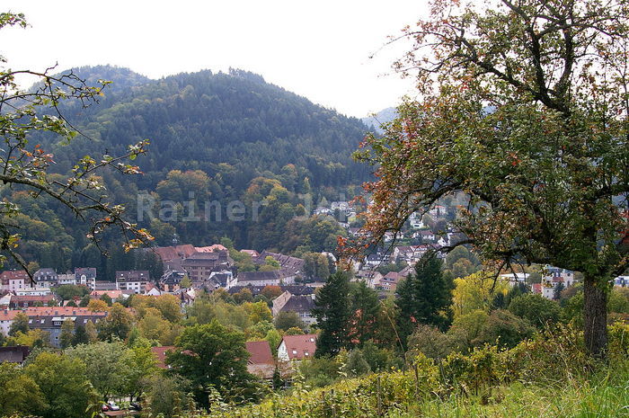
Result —
<path fill-rule="evenodd" d="M 173 294 L 180 298 L 182 308 L 193 303 L 199 289 L 211 292 L 225 289 L 235 294 L 242 289 L 249 289 L 252 296 L 261 293 L 266 286 L 277 286 L 281 292 L 273 300 L 274 316 L 285 311 L 296 312 L 306 325 L 315 322 L 311 316 L 314 307 L 315 286 L 296 285 L 296 279 L 302 276 L 305 261 L 280 253 L 244 250 L 252 255 L 254 264 L 267 262 L 268 257 L 277 261 L 279 269 L 274 271 L 243 271 L 238 273 L 235 262 L 222 245 L 195 247 L 193 245 L 174 245 L 158 247 L 154 250 L 166 268 L 161 278 L 150 277 L 148 271 L 116 271 L 115 281 L 97 280 L 94 268 L 77 268 L 74 273 L 59 274 L 53 269 L 44 268 L 36 271 L 33 280 L 26 271 L 4 271 L 0 274 L 0 332 L 7 335 L 13 320 L 22 312 L 29 317 L 31 329 L 41 329 L 50 336 L 50 344 L 60 344 L 61 325 L 70 318 L 75 327 L 92 322 L 96 325 L 106 312 L 92 312 L 84 307 L 76 307 L 80 300 L 62 301 L 55 295 L 58 286 L 72 284 L 84 286 L 90 290 L 91 298 L 109 296 L 112 301 L 128 298 L 132 294 L 160 296 Z M 185 289 L 182 280 L 189 280 Z"/>

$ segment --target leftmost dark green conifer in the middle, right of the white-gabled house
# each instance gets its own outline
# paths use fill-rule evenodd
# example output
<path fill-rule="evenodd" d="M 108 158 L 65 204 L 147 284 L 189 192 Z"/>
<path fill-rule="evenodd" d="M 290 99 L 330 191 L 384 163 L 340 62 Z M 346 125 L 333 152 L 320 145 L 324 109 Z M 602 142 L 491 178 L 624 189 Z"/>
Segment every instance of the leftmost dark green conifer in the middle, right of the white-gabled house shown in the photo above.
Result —
<path fill-rule="evenodd" d="M 328 278 L 314 299 L 313 314 L 321 334 L 316 341 L 316 356 L 336 355 L 349 343 L 350 278 L 338 271 Z"/>

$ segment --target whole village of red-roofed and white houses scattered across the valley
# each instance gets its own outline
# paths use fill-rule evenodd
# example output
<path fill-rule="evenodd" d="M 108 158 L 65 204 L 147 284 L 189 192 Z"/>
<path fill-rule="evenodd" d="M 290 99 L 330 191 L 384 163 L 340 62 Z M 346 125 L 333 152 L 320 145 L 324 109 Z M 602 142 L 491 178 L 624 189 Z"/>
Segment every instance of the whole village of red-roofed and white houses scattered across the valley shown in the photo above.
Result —
<path fill-rule="evenodd" d="M 330 208 L 315 209 L 318 216 L 334 216 L 348 219 L 355 216 L 348 202 L 332 202 Z M 334 213 L 336 212 L 336 213 Z M 341 213 L 340 213 L 341 212 Z M 445 219 L 448 209 L 437 206 L 427 211 L 433 226 Z M 433 217 L 433 218 L 430 218 Z M 433 220 L 434 219 L 434 220 Z M 339 221 L 341 224 L 342 221 Z M 356 234 L 358 228 L 346 227 L 350 234 Z M 405 238 L 407 237 L 407 238 Z M 354 281 L 363 281 L 368 288 L 377 290 L 380 298 L 394 295 L 400 280 L 405 279 L 413 271 L 413 266 L 430 250 L 439 250 L 443 245 L 449 245 L 456 239 L 456 233 L 433 231 L 424 224 L 419 214 L 413 214 L 409 225 L 396 236 L 385 238 L 385 246 L 368 253 L 360 262 L 355 262 Z M 408 245 L 398 245 L 405 241 Z M 175 243 L 176 244 L 176 243 Z M 50 268 L 34 271 L 31 283 L 26 271 L 3 271 L 2 293 L 0 293 L 0 330 L 8 336 L 13 320 L 18 313 L 29 317 L 29 328 L 44 331 L 49 335 L 49 344 L 60 347 L 61 326 L 66 319 L 71 319 L 75 327 L 92 322 L 97 325 L 107 312 L 88 309 L 92 299 L 105 299 L 110 302 L 125 302 L 133 295 L 158 298 L 162 295 L 175 297 L 185 314 L 199 294 L 225 292 L 228 295 L 243 295 L 257 300 L 265 289 L 279 289 L 278 294 L 267 299 L 273 318 L 282 312 L 297 314 L 306 325 L 316 325 L 312 315 L 316 289 L 325 284 L 325 279 L 316 277 L 313 269 L 306 271 L 304 259 L 262 251 L 243 249 L 239 253 L 250 257 L 254 266 L 269 266 L 270 269 L 254 271 L 238 271 L 235 260 L 230 256 L 229 249 L 224 245 L 209 245 L 198 247 L 190 244 L 155 247 L 144 250 L 156 253 L 164 266 L 164 274 L 151 277 L 149 271 L 116 271 L 115 281 L 99 280 L 98 271 L 93 267 L 76 268 L 74 272 L 57 272 Z M 232 249 L 232 253 L 233 253 Z M 332 253 L 322 253 L 331 266 L 335 257 Z M 382 271 L 382 267 L 387 268 Z M 395 270 L 395 266 L 402 266 Z M 333 268 L 333 267 L 332 267 Z M 577 279 L 572 271 L 545 266 L 538 282 L 531 283 L 527 272 L 502 273 L 501 280 L 509 282 L 510 286 L 524 286 L 534 294 L 547 299 L 556 299 L 558 292 L 571 288 Z M 331 271 L 333 272 L 333 271 Z M 624 287 L 629 277 L 616 278 L 615 285 Z M 58 289 L 63 286 L 78 286 L 85 289 L 85 296 L 73 298 L 60 297 Z M 314 335 L 314 334 L 313 334 Z M 313 337 L 314 338 L 314 337 Z M 266 350 L 266 349 L 264 349 Z M 278 359 L 292 359 L 291 352 L 279 355 L 278 351 L 286 351 L 286 347 L 270 347 Z M 314 345 L 308 346 L 306 351 L 296 349 L 298 357 L 314 354 Z M 306 354 L 302 354 L 304 351 Z M 253 355 L 253 353 L 252 353 Z M 255 358 L 255 356 L 253 356 Z"/>

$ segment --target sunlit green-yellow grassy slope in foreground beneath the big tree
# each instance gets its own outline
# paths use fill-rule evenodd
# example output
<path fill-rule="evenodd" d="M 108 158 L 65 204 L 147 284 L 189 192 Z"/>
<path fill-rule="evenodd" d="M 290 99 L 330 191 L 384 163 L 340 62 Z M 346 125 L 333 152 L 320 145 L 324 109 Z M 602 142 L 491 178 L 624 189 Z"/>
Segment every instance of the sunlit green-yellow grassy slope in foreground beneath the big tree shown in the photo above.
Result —
<path fill-rule="evenodd" d="M 215 405 L 202 418 L 629 418 L 629 355 L 612 333 L 609 361 L 583 356 L 579 335 L 563 330 L 511 351 L 485 347 L 442 363 L 342 380 L 310 389 L 297 383 L 260 405 Z M 576 339 L 576 340 L 575 340 Z M 620 343 L 618 343 L 620 342 Z"/>

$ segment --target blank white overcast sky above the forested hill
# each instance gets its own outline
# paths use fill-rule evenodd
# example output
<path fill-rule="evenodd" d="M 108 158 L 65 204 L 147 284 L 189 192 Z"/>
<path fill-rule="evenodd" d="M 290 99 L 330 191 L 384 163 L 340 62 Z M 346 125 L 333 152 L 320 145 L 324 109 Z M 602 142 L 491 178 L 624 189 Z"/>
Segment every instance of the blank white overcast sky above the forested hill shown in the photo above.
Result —
<path fill-rule="evenodd" d="M 243 68 L 313 102 L 363 117 L 412 93 L 392 74 L 388 35 L 425 16 L 426 0 L 4 0 L 26 30 L 0 31 L 13 69 L 111 64 L 159 78 Z"/>

